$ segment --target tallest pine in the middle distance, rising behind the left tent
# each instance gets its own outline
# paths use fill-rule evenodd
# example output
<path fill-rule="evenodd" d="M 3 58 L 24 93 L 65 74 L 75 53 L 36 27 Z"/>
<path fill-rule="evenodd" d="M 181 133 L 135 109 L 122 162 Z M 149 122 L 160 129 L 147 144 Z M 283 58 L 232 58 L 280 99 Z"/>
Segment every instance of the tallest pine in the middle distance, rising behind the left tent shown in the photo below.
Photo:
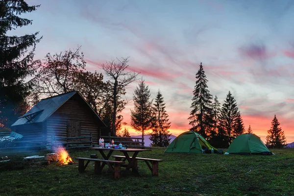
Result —
<path fill-rule="evenodd" d="M 210 134 L 214 123 L 211 106 L 213 97 L 209 93 L 207 82 L 202 63 L 200 63 L 200 68 L 196 73 L 196 85 L 191 104 L 192 111 L 188 120 L 192 125 L 190 130 L 198 132 L 205 138 Z"/>

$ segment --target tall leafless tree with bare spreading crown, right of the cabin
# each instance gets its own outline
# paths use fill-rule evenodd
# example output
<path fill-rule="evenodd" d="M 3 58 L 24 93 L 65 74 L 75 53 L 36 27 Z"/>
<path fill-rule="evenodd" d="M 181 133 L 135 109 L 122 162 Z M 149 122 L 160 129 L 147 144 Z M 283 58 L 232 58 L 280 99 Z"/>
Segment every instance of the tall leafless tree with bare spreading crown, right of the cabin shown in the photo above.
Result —
<path fill-rule="evenodd" d="M 128 71 L 128 60 L 129 57 L 116 60 L 112 60 L 102 64 L 102 69 L 106 73 L 110 82 L 112 83 L 113 93 L 113 116 L 111 131 L 113 135 L 116 135 L 116 116 L 117 116 L 117 103 L 120 92 L 124 91 L 126 86 L 136 80 L 139 73 Z"/>

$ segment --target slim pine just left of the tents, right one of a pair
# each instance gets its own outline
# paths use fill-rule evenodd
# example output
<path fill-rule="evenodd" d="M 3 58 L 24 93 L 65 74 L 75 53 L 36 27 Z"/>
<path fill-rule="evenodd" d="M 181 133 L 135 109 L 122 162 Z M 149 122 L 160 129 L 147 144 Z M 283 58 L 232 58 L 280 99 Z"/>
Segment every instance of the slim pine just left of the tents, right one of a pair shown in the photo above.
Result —
<path fill-rule="evenodd" d="M 168 129 L 171 127 L 171 123 L 169 122 L 169 115 L 165 110 L 165 103 L 160 91 L 157 92 L 155 103 L 153 104 L 152 117 L 152 133 L 149 138 L 153 143 L 152 146 L 169 146 L 171 134 L 169 134 Z"/>

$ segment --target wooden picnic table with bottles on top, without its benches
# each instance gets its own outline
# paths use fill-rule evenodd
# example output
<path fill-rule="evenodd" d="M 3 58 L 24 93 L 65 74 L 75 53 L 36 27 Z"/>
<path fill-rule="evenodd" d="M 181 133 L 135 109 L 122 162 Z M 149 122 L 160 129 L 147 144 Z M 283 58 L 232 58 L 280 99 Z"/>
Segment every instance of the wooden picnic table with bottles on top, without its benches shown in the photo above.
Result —
<path fill-rule="evenodd" d="M 125 172 L 128 172 L 130 169 L 132 169 L 132 172 L 135 172 L 135 173 L 138 173 L 138 167 L 137 167 L 137 161 L 136 161 L 136 157 L 138 153 L 143 151 L 151 151 L 150 149 L 137 149 L 137 148 L 126 148 L 126 149 L 100 148 L 100 147 L 90 147 L 90 148 L 98 150 L 104 160 L 109 160 L 109 158 L 111 157 L 112 153 L 115 150 L 123 152 L 125 159 L 128 161 L 125 168 Z M 106 155 L 104 151 L 109 151 L 109 152 Z M 132 156 L 129 156 L 129 153 L 132 153 L 132 152 L 133 152 Z M 102 163 L 101 167 L 103 168 L 106 164 L 107 164 L 106 162 Z"/>

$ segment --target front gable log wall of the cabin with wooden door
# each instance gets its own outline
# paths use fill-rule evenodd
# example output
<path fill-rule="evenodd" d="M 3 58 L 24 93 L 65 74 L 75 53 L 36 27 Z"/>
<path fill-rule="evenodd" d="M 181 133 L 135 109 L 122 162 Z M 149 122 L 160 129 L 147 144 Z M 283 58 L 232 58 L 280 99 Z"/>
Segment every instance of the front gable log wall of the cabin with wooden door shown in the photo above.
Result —
<path fill-rule="evenodd" d="M 97 117 L 93 114 L 79 96 L 73 96 L 47 119 L 47 141 L 51 142 L 52 134 L 59 138 L 89 136 L 92 133 L 93 143 L 98 144 L 100 126 Z M 67 127 L 71 127 L 70 133 Z M 89 138 L 80 141 L 89 141 Z"/>

